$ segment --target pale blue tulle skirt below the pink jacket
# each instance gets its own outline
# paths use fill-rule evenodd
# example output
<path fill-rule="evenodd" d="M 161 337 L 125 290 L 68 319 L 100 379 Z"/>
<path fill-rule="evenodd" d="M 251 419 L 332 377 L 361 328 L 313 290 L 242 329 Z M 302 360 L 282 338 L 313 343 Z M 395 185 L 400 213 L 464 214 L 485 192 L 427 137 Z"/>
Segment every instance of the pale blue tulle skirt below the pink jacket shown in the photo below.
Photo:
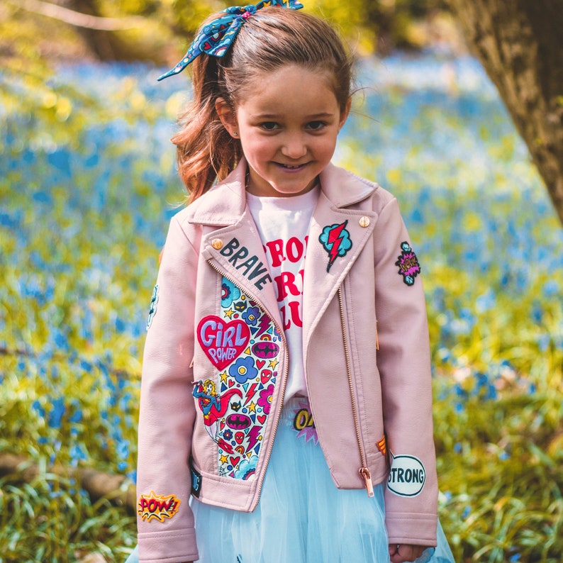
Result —
<path fill-rule="evenodd" d="M 192 499 L 200 562 L 389 563 L 384 484 L 372 498 L 364 489 L 337 489 L 314 428 L 303 418 L 294 424 L 303 406 L 299 398 L 284 406 L 254 512 Z M 416 563 L 453 563 L 440 525 L 437 543 Z"/>

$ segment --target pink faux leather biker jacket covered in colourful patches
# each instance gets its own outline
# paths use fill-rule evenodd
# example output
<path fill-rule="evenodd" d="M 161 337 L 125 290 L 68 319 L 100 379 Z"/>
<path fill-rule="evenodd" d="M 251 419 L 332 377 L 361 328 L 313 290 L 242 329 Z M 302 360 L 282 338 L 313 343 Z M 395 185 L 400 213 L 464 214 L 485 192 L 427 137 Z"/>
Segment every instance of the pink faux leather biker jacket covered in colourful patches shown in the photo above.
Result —
<path fill-rule="evenodd" d="M 170 223 L 141 387 L 142 562 L 198 558 L 190 494 L 252 511 L 284 401 L 288 352 L 243 160 Z M 329 165 L 303 276 L 303 358 L 340 489 L 386 483 L 391 543 L 435 545 L 437 478 L 420 265 L 396 199 Z M 279 249 L 279 259 L 291 249 Z"/>

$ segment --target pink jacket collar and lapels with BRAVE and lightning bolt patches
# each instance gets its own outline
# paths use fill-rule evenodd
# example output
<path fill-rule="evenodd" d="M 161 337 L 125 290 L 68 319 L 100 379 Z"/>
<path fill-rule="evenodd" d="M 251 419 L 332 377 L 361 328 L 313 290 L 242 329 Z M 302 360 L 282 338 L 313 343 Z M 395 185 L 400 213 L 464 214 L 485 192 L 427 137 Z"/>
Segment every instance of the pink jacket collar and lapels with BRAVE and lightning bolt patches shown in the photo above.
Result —
<path fill-rule="evenodd" d="M 260 282 L 267 259 L 260 235 L 246 205 L 245 177 L 247 163 L 241 160 L 235 170 L 194 202 L 190 223 L 215 227 L 204 234 L 202 255 L 219 272 L 254 296 L 281 326 L 272 279 Z M 305 262 L 303 294 L 303 352 L 320 318 L 338 288 L 371 238 L 377 213 L 372 206 L 361 204 L 377 189 L 345 169 L 328 165 L 320 174 L 320 195 L 311 218 Z M 354 206 L 353 204 L 359 204 Z M 342 226 L 332 241 L 331 229 Z M 324 234 L 323 234 L 324 233 Z M 323 243 L 324 238 L 324 243 Z M 342 243 L 341 238 L 345 238 Z M 226 245 L 217 247 L 217 241 Z M 351 244 L 350 244 L 351 243 Z M 236 247 L 235 247 L 236 245 Z M 331 245 L 333 250 L 331 250 Z M 235 247 L 235 250 L 231 250 Z M 244 250 L 242 250 L 244 247 Z M 252 269 L 235 262 L 233 254 L 244 252 L 251 257 Z M 250 264 L 250 262 L 248 262 Z M 267 274 L 266 274 L 267 275 Z"/>

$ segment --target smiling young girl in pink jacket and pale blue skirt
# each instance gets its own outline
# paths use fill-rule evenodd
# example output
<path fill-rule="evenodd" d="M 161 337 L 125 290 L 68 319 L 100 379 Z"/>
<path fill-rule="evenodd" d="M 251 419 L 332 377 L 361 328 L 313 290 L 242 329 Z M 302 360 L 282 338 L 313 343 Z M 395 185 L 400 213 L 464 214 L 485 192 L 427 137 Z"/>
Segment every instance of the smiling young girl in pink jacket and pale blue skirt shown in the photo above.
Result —
<path fill-rule="evenodd" d="M 165 74 L 193 61 L 190 204 L 147 323 L 142 562 L 452 561 L 420 265 L 396 199 L 330 163 L 351 63 L 301 7 L 227 9 Z"/>

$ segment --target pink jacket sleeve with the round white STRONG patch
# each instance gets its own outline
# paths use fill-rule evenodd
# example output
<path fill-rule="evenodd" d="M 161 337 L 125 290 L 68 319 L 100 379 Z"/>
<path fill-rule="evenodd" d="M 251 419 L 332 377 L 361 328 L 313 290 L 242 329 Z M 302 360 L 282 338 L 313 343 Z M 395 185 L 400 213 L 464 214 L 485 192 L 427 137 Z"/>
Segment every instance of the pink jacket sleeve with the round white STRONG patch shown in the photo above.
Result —
<path fill-rule="evenodd" d="M 434 546 L 438 491 L 428 320 L 420 264 L 396 199 L 381 210 L 375 244 L 377 366 L 391 463 L 386 527 L 390 543 Z"/>

